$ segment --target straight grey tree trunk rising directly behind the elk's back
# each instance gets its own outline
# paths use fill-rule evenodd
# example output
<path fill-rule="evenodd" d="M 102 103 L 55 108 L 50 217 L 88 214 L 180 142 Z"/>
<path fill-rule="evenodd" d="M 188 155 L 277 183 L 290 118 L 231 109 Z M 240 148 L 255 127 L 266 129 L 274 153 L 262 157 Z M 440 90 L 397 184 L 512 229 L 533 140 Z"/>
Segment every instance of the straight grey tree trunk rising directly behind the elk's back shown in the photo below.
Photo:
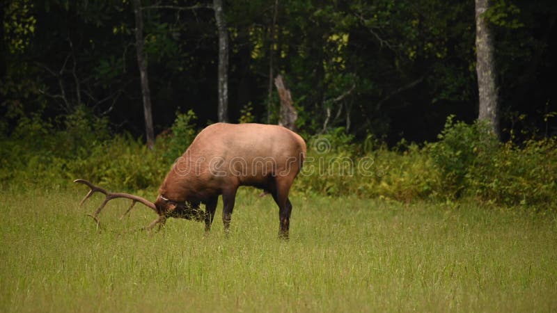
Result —
<path fill-rule="evenodd" d="M 219 122 L 228 122 L 228 30 L 222 0 L 213 0 L 214 19 L 219 33 Z"/>

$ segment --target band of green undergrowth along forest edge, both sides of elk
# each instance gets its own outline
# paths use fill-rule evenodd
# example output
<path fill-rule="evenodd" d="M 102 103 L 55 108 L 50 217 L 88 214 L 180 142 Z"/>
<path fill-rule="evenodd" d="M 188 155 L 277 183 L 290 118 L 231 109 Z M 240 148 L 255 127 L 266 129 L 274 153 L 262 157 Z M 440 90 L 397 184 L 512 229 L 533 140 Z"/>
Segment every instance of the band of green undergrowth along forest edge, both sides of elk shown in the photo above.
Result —
<path fill-rule="evenodd" d="M 70 188 L 86 178 L 113 191 L 154 198 L 173 161 L 191 143 L 196 115 L 179 113 L 149 150 L 130 134 L 111 136 L 106 118 L 78 110 L 63 128 L 24 118 L 0 138 L 0 186 Z M 401 202 L 472 199 L 487 204 L 557 209 L 557 140 L 500 143 L 487 125 L 451 116 L 439 141 L 393 148 L 375 136 L 354 141 L 339 128 L 308 135 L 308 155 L 293 187 L 298 195 L 357 196 Z"/>

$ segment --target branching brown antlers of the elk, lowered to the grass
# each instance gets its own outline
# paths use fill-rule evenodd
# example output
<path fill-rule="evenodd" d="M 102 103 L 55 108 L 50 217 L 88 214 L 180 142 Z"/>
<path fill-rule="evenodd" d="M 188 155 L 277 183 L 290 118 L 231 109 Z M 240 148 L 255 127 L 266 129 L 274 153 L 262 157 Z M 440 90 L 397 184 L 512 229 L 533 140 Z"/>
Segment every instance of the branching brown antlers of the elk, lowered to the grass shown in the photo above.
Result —
<path fill-rule="evenodd" d="M 87 214 L 88 216 L 91 216 L 95 222 L 97 223 L 97 226 L 100 226 L 100 221 L 97 218 L 97 216 L 100 214 L 100 211 L 102 211 L 102 209 L 104 208 L 105 205 L 107 205 L 107 203 L 112 200 L 112 199 L 116 199 L 116 198 L 126 198 L 126 199 L 130 199 L 132 200 L 132 205 L 130 205 L 130 208 L 127 209 L 127 211 L 125 211 L 124 214 L 122 214 L 122 216 L 120 216 L 120 220 L 128 213 L 130 213 L 130 211 L 132 210 L 132 208 L 134 207 L 135 202 L 141 202 L 142 204 L 145 204 L 146 207 L 149 207 L 150 209 L 152 209 L 153 211 L 157 212 L 157 207 L 155 207 L 155 204 L 150 202 L 149 200 L 146 200 L 145 198 L 141 198 L 138 195 L 130 195 L 129 193 L 110 193 L 108 191 L 106 191 L 104 188 L 101 188 L 99 186 L 95 186 L 93 184 L 91 184 L 91 182 L 86 181 L 85 179 L 75 179 L 74 182 L 76 183 L 80 183 L 80 184 L 85 184 L 87 185 L 89 188 L 91 188 L 91 190 L 87 193 L 87 195 L 85 196 L 85 198 L 83 198 L 83 200 L 81 200 L 81 202 L 79 202 L 79 207 L 81 207 L 81 204 L 84 204 L 84 202 L 91 197 L 91 195 L 93 195 L 93 193 L 95 192 L 100 192 L 100 193 L 104 193 L 104 195 L 106 195 L 106 198 L 104 198 L 104 201 L 102 202 L 102 204 L 100 204 L 100 207 L 98 207 L 98 209 L 95 211 L 95 213 L 93 214 Z M 157 212 L 158 214 L 158 212 Z M 145 230 L 151 230 L 152 227 L 155 227 L 155 225 L 161 223 L 162 225 L 164 225 L 164 223 L 166 222 L 166 218 L 164 218 L 164 216 L 159 216 L 157 217 L 155 220 L 153 220 L 147 227 L 145 227 Z"/>

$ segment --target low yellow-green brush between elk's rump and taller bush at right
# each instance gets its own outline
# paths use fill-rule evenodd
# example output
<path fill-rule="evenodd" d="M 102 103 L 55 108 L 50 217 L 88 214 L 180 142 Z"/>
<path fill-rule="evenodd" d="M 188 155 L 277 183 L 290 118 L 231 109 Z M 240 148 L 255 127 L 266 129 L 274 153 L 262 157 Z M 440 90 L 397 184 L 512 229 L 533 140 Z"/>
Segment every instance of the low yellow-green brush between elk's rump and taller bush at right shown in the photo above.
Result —
<path fill-rule="evenodd" d="M 338 129 L 308 140 L 296 189 L 331 196 L 357 195 L 409 202 L 430 198 L 439 179 L 417 145 L 396 152 L 372 137 L 362 145 Z M 377 147 L 372 150 L 371 147 Z"/>

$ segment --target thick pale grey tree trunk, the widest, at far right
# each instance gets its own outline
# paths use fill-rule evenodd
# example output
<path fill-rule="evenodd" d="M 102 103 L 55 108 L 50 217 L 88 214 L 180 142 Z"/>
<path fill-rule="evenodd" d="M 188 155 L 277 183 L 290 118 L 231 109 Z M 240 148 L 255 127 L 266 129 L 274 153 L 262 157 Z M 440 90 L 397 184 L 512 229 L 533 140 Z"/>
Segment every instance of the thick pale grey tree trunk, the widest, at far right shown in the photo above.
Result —
<path fill-rule="evenodd" d="M 476 72 L 480 114 L 478 120 L 486 120 L 499 137 L 499 96 L 496 86 L 493 34 L 483 14 L 489 8 L 489 0 L 476 0 Z"/>

